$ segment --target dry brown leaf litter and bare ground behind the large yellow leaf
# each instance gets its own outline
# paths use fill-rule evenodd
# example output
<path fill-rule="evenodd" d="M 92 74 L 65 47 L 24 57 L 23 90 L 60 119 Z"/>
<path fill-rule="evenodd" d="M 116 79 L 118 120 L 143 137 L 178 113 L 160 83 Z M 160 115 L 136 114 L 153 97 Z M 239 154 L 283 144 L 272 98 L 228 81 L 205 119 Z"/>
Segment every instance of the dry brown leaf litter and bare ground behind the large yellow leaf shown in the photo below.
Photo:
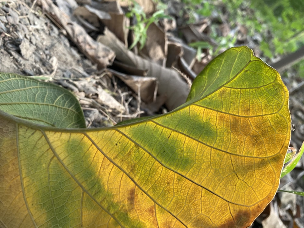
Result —
<path fill-rule="evenodd" d="M 147 15 L 156 11 L 150 0 L 136 2 Z M 41 78 L 73 91 L 88 127 L 112 126 L 181 105 L 189 91 L 181 74 L 193 80 L 213 57 L 210 48 L 198 53 L 189 43 L 203 41 L 211 48 L 218 45 L 210 38 L 210 25 L 218 19 L 209 16 L 186 24 L 187 15 L 179 15 L 183 6 L 177 1 L 167 1 L 168 13 L 176 19 L 153 23 L 144 48 L 135 46 L 132 51 L 128 46 L 134 34 L 129 26 L 134 22 L 125 16 L 127 1 L 0 3 L 0 71 Z M 261 57 L 259 34 L 249 37 L 244 25 L 232 28 L 227 13 L 219 15 L 218 35 L 236 35 L 235 46 L 247 45 Z M 182 38 L 178 38 L 178 31 Z M 299 84 L 295 76 L 283 80 L 289 89 Z M 291 145 L 295 148 L 304 139 L 304 98 L 299 94 L 300 90 L 293 92 L 290 102 L 296 125 Z M 301 158 L 295 170 L 281 180 L 280 188 L 303 191 L 303 175 Z M 304 227 L 303 205 L 302 197 L 278 192 L 252 227 Z"/>

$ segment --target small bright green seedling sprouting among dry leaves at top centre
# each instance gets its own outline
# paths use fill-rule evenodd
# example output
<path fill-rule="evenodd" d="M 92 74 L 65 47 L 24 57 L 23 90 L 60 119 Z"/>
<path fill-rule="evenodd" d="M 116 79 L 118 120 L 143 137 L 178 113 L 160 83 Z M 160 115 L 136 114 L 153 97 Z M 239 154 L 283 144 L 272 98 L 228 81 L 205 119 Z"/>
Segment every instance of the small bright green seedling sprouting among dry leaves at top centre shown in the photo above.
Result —
<path fill-rule="evenodd" d="M 158 10 L 151 17 L 147 17 L 143 8 L 135 1 L 133 1 L 133 5 L 129 7 L 130 12 L 127 12 L 126 16 L 128 18 L 135 17 L 136 19 L 136 24 L 130 26 L 130 29 L 134 31 L 135 36 L 133 43 L 129 47 L 130 49 L 135 47 L 137 43 L 140 43 L 140 49 L 143 49 L 147 41 L 147 30 L 149 26 L 153 22 L 158 22 L 162 18 L 170 18 L 164 12 L 166 5 L 159 2 L 157 6 Z"/>

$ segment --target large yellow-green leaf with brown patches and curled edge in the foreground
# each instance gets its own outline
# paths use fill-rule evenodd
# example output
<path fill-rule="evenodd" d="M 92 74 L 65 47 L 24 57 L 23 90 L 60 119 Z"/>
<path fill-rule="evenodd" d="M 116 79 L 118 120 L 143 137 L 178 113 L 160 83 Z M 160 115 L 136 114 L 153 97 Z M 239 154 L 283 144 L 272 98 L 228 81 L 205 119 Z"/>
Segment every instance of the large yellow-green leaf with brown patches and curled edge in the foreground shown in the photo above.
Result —
<path fill-rule="evenodd" d="M 219 55 L 197 78 L 185 105 L 112 128 L 41 127 L 0 111 L 1 222 L 249 226 L 278 188 L 288 91 L 247 47 Z"/>

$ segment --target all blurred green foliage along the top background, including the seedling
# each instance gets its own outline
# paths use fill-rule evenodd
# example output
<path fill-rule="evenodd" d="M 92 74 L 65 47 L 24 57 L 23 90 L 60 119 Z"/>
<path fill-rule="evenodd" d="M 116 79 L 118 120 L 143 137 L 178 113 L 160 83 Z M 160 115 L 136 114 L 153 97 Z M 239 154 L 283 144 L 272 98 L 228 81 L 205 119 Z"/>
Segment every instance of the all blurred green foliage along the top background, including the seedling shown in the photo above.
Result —
<path fill-rule="evenodd" d="M 203 49 L 215 57 L 220 52 L 241 45 L 252 48 L 255 54 L 268 64 L 280 60 L 282 57 L 304 47 L 304 1 L 299 0 L 153 0 L 157 11 L 146 17 L 143 9 L 134 0 L 129 9 L 128 17 L 135 16 L 137 24 L 130 27 L 134 30 L 136 43 L 140 49 L 146 42 L 146 31 L 152 22 L 163 18 L 177 19 L 177 25 L 199 23 L 209 20 L 207 34 L 216 46 L 210 42 L 199 41 L 188 43 L 197 49 L 197 58 Z M 172 6 L 179 5 L 179 15 L 172 14 Z M 229 32 L 223 35 L 221 26 L 227 26 Z M 223 28 L 223 27 L 222 27 Z M 246 38 L 242 42 L 238 39 L 240 30 Z M 303 51 L 304 59 L 304 51 Z M 288 59 L 288 58 L 287 58 Z M 304 78 L 304 60 L 294 61 L 288 71 L 280 72 L 283 77 Z"/>

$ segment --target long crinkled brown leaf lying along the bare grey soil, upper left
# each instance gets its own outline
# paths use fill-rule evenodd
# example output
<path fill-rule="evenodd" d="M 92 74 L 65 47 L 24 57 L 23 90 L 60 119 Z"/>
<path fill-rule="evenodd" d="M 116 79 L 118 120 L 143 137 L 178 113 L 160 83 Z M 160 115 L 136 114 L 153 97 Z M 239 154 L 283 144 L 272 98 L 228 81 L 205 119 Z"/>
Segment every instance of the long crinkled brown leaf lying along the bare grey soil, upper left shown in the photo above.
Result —
<path fill-rule="evenodd" d="M 104 68 L 114 60 L 115 53 L 105 45 L 96 42 L 77 23 L 62 12 L 51 0 L 38 0 L 48 16 L 65 29 L 70 39 L 78 46 L 83 54 L 95 62 L 99 68 Z"/>

